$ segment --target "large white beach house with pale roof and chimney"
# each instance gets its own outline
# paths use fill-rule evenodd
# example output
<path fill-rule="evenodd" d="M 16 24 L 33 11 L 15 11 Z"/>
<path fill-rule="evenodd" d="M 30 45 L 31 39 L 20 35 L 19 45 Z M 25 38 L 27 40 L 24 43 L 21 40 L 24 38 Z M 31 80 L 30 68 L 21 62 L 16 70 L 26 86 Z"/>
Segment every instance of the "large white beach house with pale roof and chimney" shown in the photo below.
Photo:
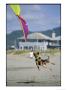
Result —
<path fill-rule="evenodd" d="M 52 37 L 46 36 L 42 33 L 32 33 L 28 35 L 25 42 L 24 37 L 17 39 L 18 49 L 20 50 L 41 50 L 45 51 L 47 48 L 60 46 L 60 36 L 55 37 L 55 33 L 52 33 Z"/>

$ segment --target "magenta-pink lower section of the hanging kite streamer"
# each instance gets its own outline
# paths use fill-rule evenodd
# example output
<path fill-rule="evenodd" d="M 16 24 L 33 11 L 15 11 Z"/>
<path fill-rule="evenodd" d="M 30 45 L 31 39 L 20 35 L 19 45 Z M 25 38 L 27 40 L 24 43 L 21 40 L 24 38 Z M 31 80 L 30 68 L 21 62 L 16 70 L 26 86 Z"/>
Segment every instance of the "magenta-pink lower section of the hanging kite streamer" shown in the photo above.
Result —
<path fill-rule="evenodd" d="M 21 17 L 21 16 L 18 16 L 19 20 L 21 21 L 21 25 L 24 29 L 24 35 L 25 35 L 25 39 L 27 40 L 27 35 L 28 35 L 28 25 L 26 23 L 26 21 Z"/>

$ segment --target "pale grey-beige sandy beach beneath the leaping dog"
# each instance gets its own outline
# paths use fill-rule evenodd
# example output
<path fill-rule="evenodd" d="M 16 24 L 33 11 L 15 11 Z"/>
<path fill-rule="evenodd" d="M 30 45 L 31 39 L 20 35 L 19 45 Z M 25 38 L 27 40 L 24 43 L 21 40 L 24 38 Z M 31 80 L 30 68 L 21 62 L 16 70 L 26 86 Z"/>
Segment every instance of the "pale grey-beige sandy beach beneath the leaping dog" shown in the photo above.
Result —
<path fill-rule="evenodd" d="M 46 67 L 37 69 L 34 58 L 28 54 L 7 55 L 7 86 L 60 86 L 61 62 L 60 54 L 50 56 L 50 62 Z"/>

